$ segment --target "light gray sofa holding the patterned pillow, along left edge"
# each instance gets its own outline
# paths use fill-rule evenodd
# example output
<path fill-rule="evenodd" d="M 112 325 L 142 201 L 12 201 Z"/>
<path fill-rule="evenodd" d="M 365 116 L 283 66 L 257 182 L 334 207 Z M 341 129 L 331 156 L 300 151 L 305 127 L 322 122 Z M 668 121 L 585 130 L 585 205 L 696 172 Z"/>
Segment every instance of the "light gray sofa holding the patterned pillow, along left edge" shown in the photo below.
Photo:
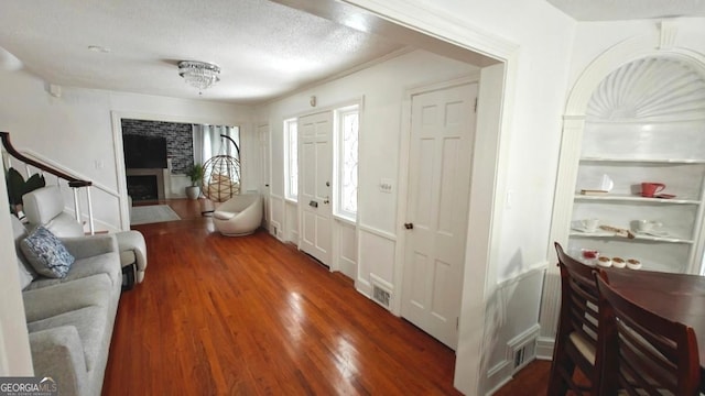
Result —
<path fill-rule="evenodd" d="M 61 395 L 100 395 L 122 285 L 116 238 L 62 239 L 76 260 L 64 278 L 48 278 L 25 258 L 28 232 L 11 218 L 34 375 L 52 377 Z"/>

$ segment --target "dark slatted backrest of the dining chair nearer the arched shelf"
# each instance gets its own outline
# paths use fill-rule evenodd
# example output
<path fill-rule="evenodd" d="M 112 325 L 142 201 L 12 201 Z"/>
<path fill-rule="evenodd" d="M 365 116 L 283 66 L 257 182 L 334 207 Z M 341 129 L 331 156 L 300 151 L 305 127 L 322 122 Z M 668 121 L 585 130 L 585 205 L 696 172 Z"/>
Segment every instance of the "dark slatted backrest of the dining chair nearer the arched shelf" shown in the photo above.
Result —
<path fill-rule="evenodd" d="M 561 267 L 560 326 L 568 326 L 568 332 L 581 333 L 596 348 L 599 319 L 599 294 L 593 275 L 596 270 L 567 255 L 557 242 L 555 251 Z"/>

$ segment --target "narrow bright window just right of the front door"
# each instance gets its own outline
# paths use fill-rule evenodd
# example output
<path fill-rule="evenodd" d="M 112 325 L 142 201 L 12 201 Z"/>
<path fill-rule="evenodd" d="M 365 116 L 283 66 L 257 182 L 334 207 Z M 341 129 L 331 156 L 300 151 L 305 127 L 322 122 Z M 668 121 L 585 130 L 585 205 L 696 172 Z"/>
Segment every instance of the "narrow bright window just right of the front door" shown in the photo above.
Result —
<path fill-rule="evenodd" d="M 335 111 L 337 140 L 335 213 L 351 221 L 357 219 L 357 160 L 359 138 L 359 106 L 350 106 Z"/>

